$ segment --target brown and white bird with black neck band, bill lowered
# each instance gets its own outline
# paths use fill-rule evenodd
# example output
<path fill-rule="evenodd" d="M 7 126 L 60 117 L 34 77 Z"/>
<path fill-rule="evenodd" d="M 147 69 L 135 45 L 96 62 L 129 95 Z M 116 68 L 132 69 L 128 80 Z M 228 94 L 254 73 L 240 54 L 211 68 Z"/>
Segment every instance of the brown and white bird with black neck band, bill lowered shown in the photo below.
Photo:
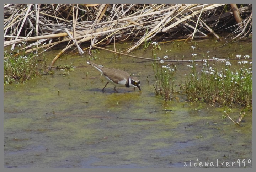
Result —
<path fill-rule="evenodd" d="M 111 83 L 115 86 L 114 91 L 116 92 L 118 92 L 116 87 L 137 87 L 139 88 L 139 91 L 141 91 L 140 80 L 137 77 L 130 76 L 127 72 L 120 69 L 104 68 L 102 65 L 97 65 L 92 61 L 87 61 L 87 63 L 98 69 L 98 71 L 100 71 L 108 81 L 101 90 L 102 92 L 104 92 L 104 88 L 108 85 L 108 83 Z"/>

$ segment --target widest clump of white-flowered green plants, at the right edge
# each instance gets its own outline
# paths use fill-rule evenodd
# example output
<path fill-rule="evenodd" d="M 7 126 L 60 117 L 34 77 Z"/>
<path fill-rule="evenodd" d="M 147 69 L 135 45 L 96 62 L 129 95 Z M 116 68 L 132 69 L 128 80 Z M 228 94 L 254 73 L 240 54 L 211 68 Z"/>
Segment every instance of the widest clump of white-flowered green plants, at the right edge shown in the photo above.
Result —
<path fill-rule="evenodd" d="M 209 60 L 203 60 L 203 66 L 198 70 L 194 61 L 196 54 L 192 54 L 185 81 L 188 99 L 222 106 L 252 106 L 252 62 L 247 61 L 248 55 L 244 56 L 245 60 L 237 57 L 236 69 L 232 69 L 231 62 L 226 60 L 221 61 L 222 68 L 218 71 L 210 66 Z M 218 58 L 213 59 L 214 63 L 219 63 Z"/>

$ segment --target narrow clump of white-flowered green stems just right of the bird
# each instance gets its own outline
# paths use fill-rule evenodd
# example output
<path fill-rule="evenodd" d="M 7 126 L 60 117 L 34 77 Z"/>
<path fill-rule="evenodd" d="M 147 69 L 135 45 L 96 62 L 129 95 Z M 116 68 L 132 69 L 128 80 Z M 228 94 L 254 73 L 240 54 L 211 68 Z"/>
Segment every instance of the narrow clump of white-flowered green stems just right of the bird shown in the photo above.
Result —
<path fill-rule="evenodd" d="M 153 49 L 161 49 L 156 42 L 153 42 Z M 168 57 L 163 57 L 167 59 Z M 164 98 L 165 104 L 168 101 L 172 100 L 175 92 L 175 84 L 174 84 L 174 73 L 176 71 L 176 66 L 171 68 L 170 64 L 164 65 L 164 60 L 160 57 L 156 57 L 154 54 L 154 63 L 152 63 L 154 75 L 155 75 L 155 83 L 154 92 L 155 95 L 160 95 Z"/>

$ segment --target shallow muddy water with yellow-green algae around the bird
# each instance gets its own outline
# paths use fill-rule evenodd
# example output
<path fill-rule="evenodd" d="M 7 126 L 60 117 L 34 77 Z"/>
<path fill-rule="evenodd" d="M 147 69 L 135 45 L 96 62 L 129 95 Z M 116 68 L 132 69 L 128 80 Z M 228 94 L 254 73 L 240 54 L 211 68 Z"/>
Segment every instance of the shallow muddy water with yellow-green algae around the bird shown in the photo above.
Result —
<path fill-rule="evenodd" d="M 217 50 L 215 41 L 197 44 L 198 59 L 206 51 L 209 57 L 252 57 L 252 43 L 247 41 Z M 190 45 L 161 47 L 155 52 L 158 57 L 191 58 Z M 132 54 L 151 58 L 152 49 Z M 185 94 L 164 105 L 153 91 L 150 61 L 102 50 L 93 55 L 95 63 L 138 77 L 142 91 L 117 87 L 116 93 L 108 84 L 101 92 L 106 80 L 86 64 L 88 57 L 77 56 L 56 62 L 84 66 L 67 76 L 55 70 L 53 76 L 4 86 L 5 168 L 252 168 L 251 113 L 237 127 L 222 119 L 224 108 L 187 102 Z M 187 63 L 174 65 L 175 82 L 182 84 Z M 232 111 L 238 118 L 241 109 Z"/>

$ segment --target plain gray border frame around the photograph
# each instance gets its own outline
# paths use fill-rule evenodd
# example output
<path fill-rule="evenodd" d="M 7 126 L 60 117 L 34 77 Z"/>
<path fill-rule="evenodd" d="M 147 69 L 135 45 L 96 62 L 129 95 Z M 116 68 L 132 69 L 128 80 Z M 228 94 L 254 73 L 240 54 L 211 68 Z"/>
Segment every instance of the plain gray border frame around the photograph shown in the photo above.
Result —
<path fill-rule="evenodd" d="M 14 0 L 14 1 L 16 1 L 16 3 L 20 3 L 20 1 L 17 1 L 17 0 Z M 145 1 L 145 0 L 142 0 L 141 2 L 143 2 L 144 1 L 144 3 L 145 2 L 147 2 L 147 3 L 155 3 L 156 1 L 153 1 L 153 0 L 148 0 L 148 1 Z M 207 0 L 208 1 L 208 0 Z M 38 1 L 38 0 L 36 0 L 36 2 L 37 3 L 40 3 L 40 1 Z M 57 1 L 48 1 L 48 0 L 44 0 L 44 2 L 43 3 L 70 3 L 70 1 L 60 1 L 60 0 L 57 0 Z M 100 0 L 100 1 L 92 1 L 92 0 L 87 0 L 87 1 L 75 1 L 76 3 L 106 3 L 106 1 L 103 1 L 103 0 Z M 170 2 L 170 1 L 167 1 L 167 0 L 161 0 L 160 1 L 161 3 L 176 3 L 175 1 L 174 2 Z M 191 1 L 188 1 L 188 0 L 182 0 L 182 1 L 179 1 L 179 2 L 182 2 L 182 3 L 191 3 Z M 208 1 L 208 2 L 206 2 L 206 1 L 202 1 L 202 0 L 197 0 L 196 1 L 196 3 L 210 3 L 210 2 L 212 2 L 212 1 Z M 223 1 L 220 1 L 221 3 L 223 3 Z M 230 1 L 227 1 L 227 2 L 230 2 Z M 3 4 L 4 3 L 9 3 L 7 0 L 3 0 Z M 12 3 L 15 3 L 15 2 L 12 2 Z M 24 3 L 24 2 L 22 2 L 22 3 Z M 35 3 L 35 1 L 33 1 L 33 3 Z M 117 1 L 113 1 L 113 0 L 108 0 L 107 1 L 107 3 L 118 3 Z M 129 2 L 127 2 L 126 1 L 126 3 L 138 3 L 138 2 L 136 2 L 136 1 L 134 1 L 134 0 L 129 0 Z M 216 3 L 215 1 L 214 1 L 214 3 Z M 238 0 L 233 0 L 232 1 L 232 3 L 241 3 L 241 1 L 238 1 Z M 246 0 L 246 3 L 252 3 L 253 4 L 253 0 Z M 1 14 L 3 14 L 3 11 L 2 11 L 3 9 L 1 8 Z M 253 20 L 253 23 L 255 23 L 255 20 Z M 1 31 L 2 31 L 2 29 L 3 28 L 1 28 Z M 3 33 L 3 32 L 2 32 Z M 1 52 L 3 52 L 3 42 L 1 42 Z M 253 49 L 255 48 L 255 36 L 253 36 Z M 254 55 L 255 53 L 254 53 L 254 51 L 253 51 L 253 55 Z M 256 68 L 256 64 L 255 64 L 255 60 L 253 60 L 254 61 L 254 63 L 253 63 L 253 72 L 255 72 L 255 68 Z M 0 61 L 0 68 L 1 69 L 3 69 L 3 60 L 1 60 Z M 1 70 L 1 76 L 0 76 L 0 79 L 3 81 L 3 70 Z M 253 77 L 253 85 L 255 86 L 256 84 L 255 84 L 255 77 Z M 4 97 L 3 96 L 3 84 L 1 84 L 1 91 L 0 91 L 0 94 L 1 94 L 1 97 Z M 256 94 L 256 91 L 255 91 L 255 89 L 253 90 L 253 106 L 255 105 L 255 95 Z M 3 142 L 3 140 L 4 140 L 4 133 L 3 133 L 3 130 L 4 130 L 4 115 L 3 115 L 3 112 L 4 112 L 4 100 L 3 99 L 0 99 L 0 112 L 1 112 L 1 115 L 0 115 L 0 126 L 1 126 L 1 133 L 0 133 L 0 138 L 1 138 L 1 147 L 2 147 L 2 149 L 0 150 L 0 169 L 1 169 L 1 171 L 2 172 L 5 172 L 5 171 L 26 171 L 26 172 L 29 172 L 29 171 L 50 171 L 50 172 L 52 172 L 53 170 L 54 171 L 61 171 L 61 172 L 65 172 L 65 171 L 82 171 L 82 172 L 85 172 L 85 171 L 92 171 L 92 172 L 98 172 L 98 171 L 104 171 L 104 172 L 108 172 L 108 171 L 113 171 L 113 172 L 115 172 L 115 171 L 120 171 L 121 169 L 12 169 L 12 168 L 10 168 L 10 169 L 6 169 L 6 168 L 4 168 L 4 166 L 3 166 L 3 163 L 4 163 L 4 150 L 3 150 L 3 147 L 4 147 L 4 142 Z M 253 114 L 254 115 L 254 114 Z M 256 118 L 254 117 L 253 118 L 253 124 L 255 124 L 255 120 L 256 120 Z M 253 129 L 254 130 L 254 129 Z M 253 149 L 253 159 L 255 160 L 255 151 L 254 151 L 254 148 L 255 148 L 255 132 L 253 133 L 253 144 L 252 144 L 252 149 Z M 252 161 L 253 162 L 253 161 Z M 256 167 L 254 167 L 254 168 L 256 168 Z M 223 170 L 225 170 L 225 171 L 232 171 L 232 172 L 234 172 L 234 171 L 244 171 L 244 170 L 246 170 L 246 171 L 253 171 L 253 168 L 251 168 L 251 169 L 241 169 L 241 168 L 239 168 L 239 169 L 207 169 L 207 171 L 223 171 Z M 148 171 L 163 171 L 163 172 L 170 172 L 170 171 L 205 171 L 205 169 L 198 169 L 198 168 L 194 168 L 194 169 L 187 169 L 187 168 L 181 168 L 181 169 L 164 169 L 164 168 L 161 168 L 161 169 L 122 169 L 122 171 L 146 171 L 146 172 L 148 172 Z"/>

